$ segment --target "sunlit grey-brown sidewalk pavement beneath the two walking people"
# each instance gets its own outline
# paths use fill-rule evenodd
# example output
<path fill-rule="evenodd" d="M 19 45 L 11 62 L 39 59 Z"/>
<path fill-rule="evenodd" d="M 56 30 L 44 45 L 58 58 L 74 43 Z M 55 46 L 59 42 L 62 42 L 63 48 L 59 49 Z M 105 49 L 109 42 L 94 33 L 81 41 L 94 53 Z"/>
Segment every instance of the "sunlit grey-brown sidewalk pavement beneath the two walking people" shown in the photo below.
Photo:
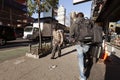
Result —
<path fill-rule="evenodd" d="M 0 80 L 79 80 L 74 46 L 62 49 L 60 58 L 51 60 L 50 57 L 51 54 L 40 59 L 23 56 L 2 62 Z M 104 80 L 105 65 L 96 63 L 89 73 L 89 80 Z"/>

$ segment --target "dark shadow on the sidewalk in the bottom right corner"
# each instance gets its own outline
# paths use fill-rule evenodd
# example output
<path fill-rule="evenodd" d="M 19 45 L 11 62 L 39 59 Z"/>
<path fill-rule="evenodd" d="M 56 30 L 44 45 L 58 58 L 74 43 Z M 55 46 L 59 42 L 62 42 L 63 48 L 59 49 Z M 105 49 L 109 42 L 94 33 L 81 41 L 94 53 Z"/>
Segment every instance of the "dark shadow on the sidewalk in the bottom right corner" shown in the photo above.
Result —
<path fill-rule="evenodd" d="M 120 79 L 120 58 L 115 55 L 110 56 L 111 61 L 106 61 L 106 72 L 104 80 Z"/>

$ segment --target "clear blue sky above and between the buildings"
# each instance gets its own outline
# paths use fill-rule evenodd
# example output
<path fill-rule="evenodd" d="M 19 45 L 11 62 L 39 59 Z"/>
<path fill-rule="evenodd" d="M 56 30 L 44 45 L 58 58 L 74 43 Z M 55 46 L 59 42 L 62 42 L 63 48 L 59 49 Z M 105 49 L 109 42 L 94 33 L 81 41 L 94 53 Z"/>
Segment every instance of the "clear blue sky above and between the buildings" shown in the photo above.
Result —
<path fill-rule="evenodd" d="M 73 5 L 73 0 L 59 0 L 59 5 L 62 5 L 66 9 L 66 16 L 70 15 L 70 12 L 83 12 L 85 17 L 90 18 L 91 15 L 91 1 Z M 38 16 L 34 14 L 32 17 L 37 18 Z"/>

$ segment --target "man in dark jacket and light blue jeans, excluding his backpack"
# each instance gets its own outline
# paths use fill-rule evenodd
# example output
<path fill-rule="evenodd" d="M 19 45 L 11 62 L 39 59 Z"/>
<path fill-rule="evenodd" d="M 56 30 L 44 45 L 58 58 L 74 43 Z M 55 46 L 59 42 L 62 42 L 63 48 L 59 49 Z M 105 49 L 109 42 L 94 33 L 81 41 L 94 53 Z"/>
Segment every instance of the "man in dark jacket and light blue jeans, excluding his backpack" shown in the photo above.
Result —
<path fill-rule="evenodd" d="M 78 13 L 76 15 L 76 21 L 73 22 L 70 29 L 71 42 L 75 44 L 75 48 L 78 53 L 80 80 L 86 80 L 86 76 L 84 75 L 84 53 L 86 53 L 90 47 L 88 44 L 80 40 L 82 36 L 79 33 L 80 28 L 78 27 L 78 24 L 81 24 L 81 21 L 83 21 L 84 19 L 84 14 L 82 12 Z"/>

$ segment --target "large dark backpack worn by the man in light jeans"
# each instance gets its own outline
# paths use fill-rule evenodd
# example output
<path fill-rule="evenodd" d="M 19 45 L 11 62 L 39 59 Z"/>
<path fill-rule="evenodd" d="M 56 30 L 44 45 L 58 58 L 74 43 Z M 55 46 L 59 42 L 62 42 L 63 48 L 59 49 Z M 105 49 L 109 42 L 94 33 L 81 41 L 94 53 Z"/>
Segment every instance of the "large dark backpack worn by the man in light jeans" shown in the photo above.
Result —
<path fill-rule="evenodd" d="M 92 42 L 93 40 L 93 23 L 90 19 L 81 19 L 76 25 L 75 38 L 76 40 L 84 43 Z"/>

